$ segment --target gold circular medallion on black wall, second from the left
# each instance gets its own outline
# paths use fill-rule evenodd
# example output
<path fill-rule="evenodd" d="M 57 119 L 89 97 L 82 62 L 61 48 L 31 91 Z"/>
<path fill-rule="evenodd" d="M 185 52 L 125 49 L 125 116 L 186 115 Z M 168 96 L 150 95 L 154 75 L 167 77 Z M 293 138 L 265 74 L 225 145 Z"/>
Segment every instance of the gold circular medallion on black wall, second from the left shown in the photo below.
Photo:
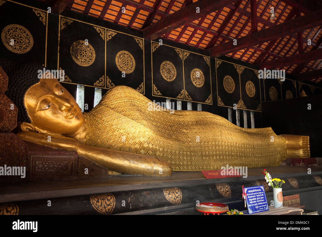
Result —
<path fill-rule="evenodd" d="M 90 43 L 77 40 L 71 45 L 71 57 L 78 65 L 87 67 L 95 61 L 95 50 Z"/>

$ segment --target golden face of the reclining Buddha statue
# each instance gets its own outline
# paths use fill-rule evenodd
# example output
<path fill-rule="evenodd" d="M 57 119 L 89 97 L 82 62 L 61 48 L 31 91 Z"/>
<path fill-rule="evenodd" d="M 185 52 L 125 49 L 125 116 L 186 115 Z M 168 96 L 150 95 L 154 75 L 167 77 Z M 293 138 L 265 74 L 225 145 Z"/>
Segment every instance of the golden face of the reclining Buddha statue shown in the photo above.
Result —
<path fill-rule="evenodd" d="M 38 130 L 56 134 L 76 133 L 83 124 L 81 108 L 55 78 L 42 78 L 24 96 L 31 124 Z"/>

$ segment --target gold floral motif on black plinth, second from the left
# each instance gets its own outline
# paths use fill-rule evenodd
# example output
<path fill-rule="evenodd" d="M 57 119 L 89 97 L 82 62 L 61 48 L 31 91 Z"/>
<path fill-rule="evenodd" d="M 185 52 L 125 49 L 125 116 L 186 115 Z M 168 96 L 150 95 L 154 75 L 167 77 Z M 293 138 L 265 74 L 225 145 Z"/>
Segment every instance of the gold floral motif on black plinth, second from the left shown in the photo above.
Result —
<path fill-rule="evenodd" d="M 90 204 L 97 212 L 109 215 L 115 208 L 115 197 L 110 193 L 93 194 L 90 196 Z"/>

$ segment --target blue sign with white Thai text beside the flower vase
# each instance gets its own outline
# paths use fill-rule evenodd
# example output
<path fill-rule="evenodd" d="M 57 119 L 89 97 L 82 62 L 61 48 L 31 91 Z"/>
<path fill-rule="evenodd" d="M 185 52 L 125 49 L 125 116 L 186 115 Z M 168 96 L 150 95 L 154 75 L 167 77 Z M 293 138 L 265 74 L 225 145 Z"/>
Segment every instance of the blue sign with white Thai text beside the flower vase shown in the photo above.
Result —
<path fill-rule="evenodd" d="M 245 188 L 248 213 L 268 211 L 264 186 Z"/>

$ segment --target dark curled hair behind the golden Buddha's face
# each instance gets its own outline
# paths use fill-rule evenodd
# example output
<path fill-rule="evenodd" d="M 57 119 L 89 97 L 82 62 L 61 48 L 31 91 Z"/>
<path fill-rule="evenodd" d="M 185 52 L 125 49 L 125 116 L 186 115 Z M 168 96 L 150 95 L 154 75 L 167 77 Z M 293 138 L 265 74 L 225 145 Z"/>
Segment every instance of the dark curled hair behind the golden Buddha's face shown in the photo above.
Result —
<path fill-rule="evenodd" d="M 43 70 L 44 66 L 36 62 L 18 62 L 1 57 L 0 66 L 8 75 L 8 90 L 5 95 L 18 108 L 18 122 L 30 123 L 24 107 L 24 94 L 32 85 L 39 82 L 38 70 Z"/>

